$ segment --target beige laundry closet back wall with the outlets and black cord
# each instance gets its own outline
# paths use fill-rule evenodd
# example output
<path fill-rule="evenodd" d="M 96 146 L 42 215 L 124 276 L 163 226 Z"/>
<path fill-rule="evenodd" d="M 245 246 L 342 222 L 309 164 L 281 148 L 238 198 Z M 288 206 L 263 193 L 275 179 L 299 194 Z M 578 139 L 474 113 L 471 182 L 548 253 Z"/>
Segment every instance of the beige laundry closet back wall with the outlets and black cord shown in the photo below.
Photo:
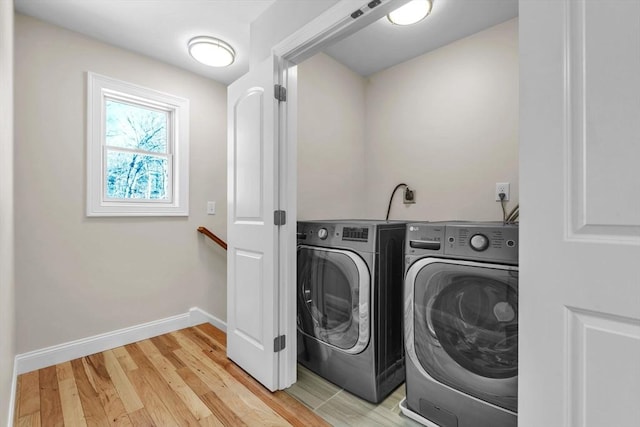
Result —
<path fill-rule="evenodd" d="M 518 201 L 518 20 L 381 71 L 367 86 L 367 206 L 392 219 L 502 220 L 496 182 Z"/>

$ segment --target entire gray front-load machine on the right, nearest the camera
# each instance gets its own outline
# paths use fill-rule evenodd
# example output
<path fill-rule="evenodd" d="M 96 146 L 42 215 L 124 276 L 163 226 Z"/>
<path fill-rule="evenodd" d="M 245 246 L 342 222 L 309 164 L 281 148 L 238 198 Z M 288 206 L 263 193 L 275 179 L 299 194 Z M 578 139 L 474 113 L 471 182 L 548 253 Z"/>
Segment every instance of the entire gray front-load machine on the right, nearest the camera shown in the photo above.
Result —
<path fill-rule="evenodd" d="M 413 223 L 405 245 L 405 413 L 515 427 L 517 225 Z"/>

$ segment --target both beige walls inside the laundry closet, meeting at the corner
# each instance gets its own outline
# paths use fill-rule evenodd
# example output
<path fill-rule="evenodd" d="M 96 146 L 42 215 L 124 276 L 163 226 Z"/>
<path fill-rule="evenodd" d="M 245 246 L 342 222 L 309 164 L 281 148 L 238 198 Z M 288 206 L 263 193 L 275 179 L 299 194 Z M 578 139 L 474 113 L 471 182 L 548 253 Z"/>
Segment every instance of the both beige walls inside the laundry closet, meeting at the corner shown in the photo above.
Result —
<path fill-rule="evenodd" d="M 298 218 L 501 220 L 518 203 L 518 21 L 365 79 L 318 54 L 298 66 Z M 360 189 L 364 189 L 360 191 Z"/>

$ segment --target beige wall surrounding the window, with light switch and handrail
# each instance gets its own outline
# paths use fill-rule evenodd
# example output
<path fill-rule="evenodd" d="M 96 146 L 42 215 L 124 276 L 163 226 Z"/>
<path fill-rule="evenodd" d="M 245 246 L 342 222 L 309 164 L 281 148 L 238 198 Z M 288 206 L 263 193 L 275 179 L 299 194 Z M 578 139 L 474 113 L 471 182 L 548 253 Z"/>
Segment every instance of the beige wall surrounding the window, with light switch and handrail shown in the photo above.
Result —
<path fill-rule="evenodd" d="M 16 15 L 17 352 L 185 313 L 226 319 L 226 87 Z M 188 218 L 85 216 L 86 72 L 190 101 Z M 206 201 L 217 215 L 206 215 Z"/>

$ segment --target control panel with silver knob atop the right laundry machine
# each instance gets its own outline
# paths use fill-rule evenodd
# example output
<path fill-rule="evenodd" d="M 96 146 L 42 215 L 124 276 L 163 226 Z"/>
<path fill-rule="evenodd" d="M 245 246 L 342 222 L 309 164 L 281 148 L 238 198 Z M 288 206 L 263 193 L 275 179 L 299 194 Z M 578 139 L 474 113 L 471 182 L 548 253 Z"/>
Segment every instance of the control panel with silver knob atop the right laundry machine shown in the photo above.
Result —
<path fill-rule="evenodd" d="M 462 221 L 407 224 L 405 253 L 517 264 L 518 226 Z"/>

